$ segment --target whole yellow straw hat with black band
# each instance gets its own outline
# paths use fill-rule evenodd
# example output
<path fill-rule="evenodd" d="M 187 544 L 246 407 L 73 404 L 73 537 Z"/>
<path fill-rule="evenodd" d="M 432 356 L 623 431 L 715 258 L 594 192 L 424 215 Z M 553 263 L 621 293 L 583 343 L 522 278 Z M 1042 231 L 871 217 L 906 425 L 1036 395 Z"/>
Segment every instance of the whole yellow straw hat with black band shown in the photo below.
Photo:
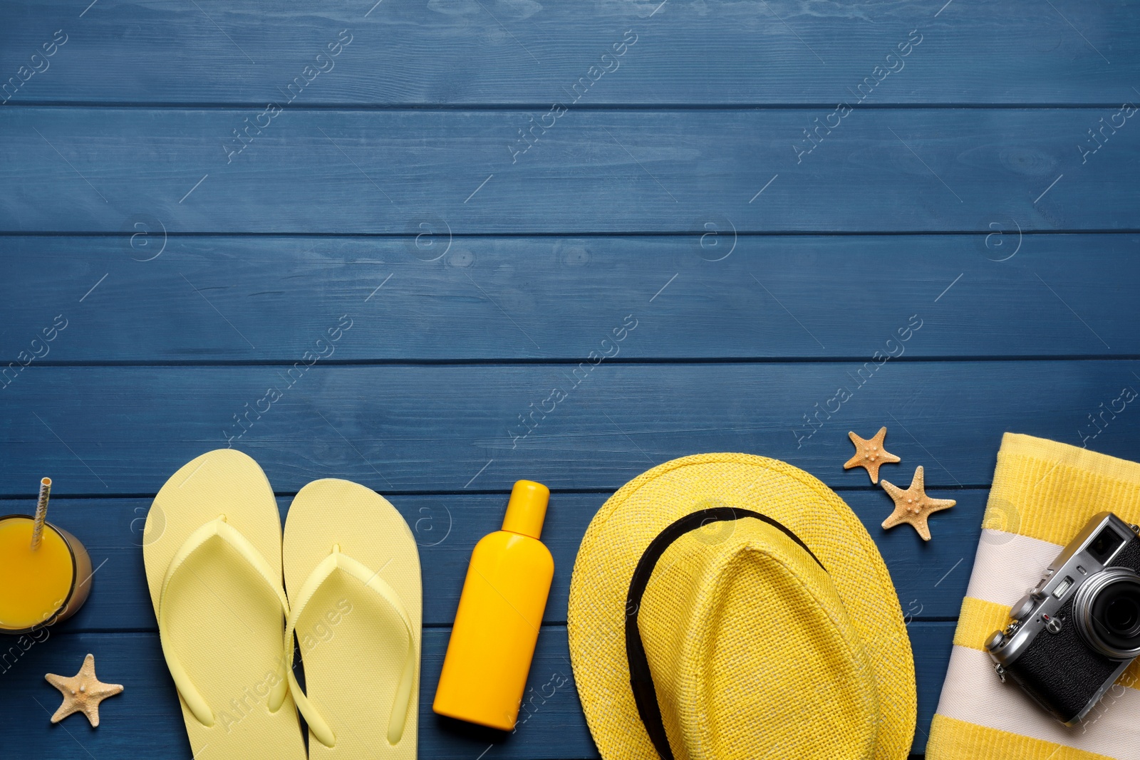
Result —
<path fill-rule="evenodd" d="M 583 539 L 567 614 L 604 760 L 902 760 L 914 661 L 890 575 L 812 475 L 746 453 L 667 461 Z"/>

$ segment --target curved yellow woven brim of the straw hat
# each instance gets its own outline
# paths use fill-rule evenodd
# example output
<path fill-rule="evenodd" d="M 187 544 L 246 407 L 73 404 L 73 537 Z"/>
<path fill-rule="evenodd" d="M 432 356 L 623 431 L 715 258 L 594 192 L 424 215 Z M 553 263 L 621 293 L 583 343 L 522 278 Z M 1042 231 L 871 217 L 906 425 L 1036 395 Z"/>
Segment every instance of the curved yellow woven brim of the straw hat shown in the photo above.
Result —
<path fill-rule="evenodd" d="M 578 695 L 602 758 L 658 758 L 629 686 L 626 595 L 653 538 L 710 506 L 772 517 L 820 558 L 874 668 L 881 721 L 874 760 L 906 758 L 917 712 L 914 660 L 882 556 L 834 491 L 787 463 L 746 453 L 705 453 L 659 465 L 610 497 L 586 530 L 570 581 L 567 627 Z"/>

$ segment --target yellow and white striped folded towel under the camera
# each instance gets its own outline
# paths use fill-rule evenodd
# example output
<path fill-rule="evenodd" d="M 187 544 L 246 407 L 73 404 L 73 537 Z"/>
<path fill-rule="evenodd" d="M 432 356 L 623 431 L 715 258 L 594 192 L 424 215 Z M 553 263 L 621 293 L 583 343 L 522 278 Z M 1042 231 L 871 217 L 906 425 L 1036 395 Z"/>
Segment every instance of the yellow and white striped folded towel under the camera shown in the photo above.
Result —
<path fill-rule="evenodd" d="M 1140 760 L 1140 660 L 1072 728 L 1012 680 L 983 647 L 1092 515 L 1140 523 L 1140 464 L 1066 443 L 1005 433 L 946 681 L 927 743 L 929 760 Z"/>

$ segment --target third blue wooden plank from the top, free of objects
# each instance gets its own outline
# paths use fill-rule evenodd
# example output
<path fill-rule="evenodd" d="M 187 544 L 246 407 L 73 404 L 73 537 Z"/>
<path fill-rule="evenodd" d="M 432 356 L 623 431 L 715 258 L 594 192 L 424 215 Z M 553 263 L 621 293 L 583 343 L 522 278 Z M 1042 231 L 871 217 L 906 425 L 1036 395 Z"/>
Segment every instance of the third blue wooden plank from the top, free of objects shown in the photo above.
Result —
<path fill-rule="evenodd" d="M 1140 354 L 1134 235 L 734 236 L 708 223 L 577 238 L 427 224 L 417 239 L 180 237 L 140 219 L 133 238 L 0 237 L 0 357 L 30 351 L 57 313 L 75 327 L 38 362 L 298 360 L 342 313 L 352 326 L 329 361 L 868 359 L 911 314 L 922 327 L 904 360 Z M 636 327 L 616 342 L 628 314 Z"/>

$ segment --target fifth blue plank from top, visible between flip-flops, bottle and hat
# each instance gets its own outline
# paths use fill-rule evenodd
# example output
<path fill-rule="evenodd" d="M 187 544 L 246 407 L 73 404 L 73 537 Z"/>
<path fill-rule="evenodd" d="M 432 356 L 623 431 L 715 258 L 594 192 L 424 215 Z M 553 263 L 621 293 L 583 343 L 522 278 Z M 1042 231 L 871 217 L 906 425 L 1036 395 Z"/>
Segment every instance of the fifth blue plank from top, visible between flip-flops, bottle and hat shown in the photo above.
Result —
<path fill-rule="evenodd" d="M 903 610 L 911 618 L 956 618 L 977 547 L 988 491 L 954 493 L 958 506 L 931 520 L 938 540 L 922 545 L 910 529 L 883 531 L 890 514 L 882 491 L 844 491 L 844 499 L 878 542 Z M 564 623 L 570 575 L 578 546 L 608 493 L 555 493 L 543 541 L 554 555 L 554 586 L 544 620 Z M 424 624 L 455 619 L 459 591 L 475 541 L 498 530 L 505 495 L 389 497 L 412 526 L 420 545 L 424 581 Z M 278 499 L 282 518 L 291 499 Z M 0 501 L 0 514 L 31 513 L 32 500 Z M 98 567 L 91 597 L 64 630 L 156 630 L 142 572 L 142 525 L 150 499 L 67 499 L 51 501 L 55 524 L 78 536 Z"/>

